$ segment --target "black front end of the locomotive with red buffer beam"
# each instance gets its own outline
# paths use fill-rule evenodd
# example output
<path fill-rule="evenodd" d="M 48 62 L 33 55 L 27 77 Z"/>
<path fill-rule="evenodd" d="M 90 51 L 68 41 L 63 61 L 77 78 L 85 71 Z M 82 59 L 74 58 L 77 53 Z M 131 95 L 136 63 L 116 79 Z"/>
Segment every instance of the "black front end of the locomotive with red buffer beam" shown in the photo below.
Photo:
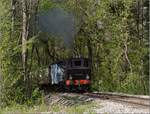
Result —
<path fill-rule="evenodd" d="M 90 65 L 86 58 L 70 59 L 67 63 L 65 84 L 67 89 L 87 90 L 90 84 Z"/>

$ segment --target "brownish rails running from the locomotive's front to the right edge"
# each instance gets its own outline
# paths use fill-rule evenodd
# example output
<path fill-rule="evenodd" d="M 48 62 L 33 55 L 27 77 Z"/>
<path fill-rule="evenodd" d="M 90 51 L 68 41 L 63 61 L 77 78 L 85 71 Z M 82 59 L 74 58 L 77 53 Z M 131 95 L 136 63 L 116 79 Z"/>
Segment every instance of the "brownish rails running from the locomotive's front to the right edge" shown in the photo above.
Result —
<path fill-rule="evenodd" d="M 100 93 L 84 93 L 86 96 L 93 98 L 108 99 L 115 102 L 123 102 L 132 105 L 143 106 L 146 108 L 150 107 L 150 97 L 149 96 L 139 96 L 139 95 L 128 95 L 128 94 L 119 94 L 111 92 L 100 92 Z"/>

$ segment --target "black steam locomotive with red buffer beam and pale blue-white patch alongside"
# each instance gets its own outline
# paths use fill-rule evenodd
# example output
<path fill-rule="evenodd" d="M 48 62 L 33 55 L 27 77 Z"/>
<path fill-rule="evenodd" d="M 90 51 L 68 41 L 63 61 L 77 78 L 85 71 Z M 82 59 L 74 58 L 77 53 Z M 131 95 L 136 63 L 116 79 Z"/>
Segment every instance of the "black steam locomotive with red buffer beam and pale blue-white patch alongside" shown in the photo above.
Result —
<path fill-rule="evenodd" d="M 91 69 L 88 58 L 70 58 L 49 66 L 51 85 L 62 90 L 89 90 Z"/>

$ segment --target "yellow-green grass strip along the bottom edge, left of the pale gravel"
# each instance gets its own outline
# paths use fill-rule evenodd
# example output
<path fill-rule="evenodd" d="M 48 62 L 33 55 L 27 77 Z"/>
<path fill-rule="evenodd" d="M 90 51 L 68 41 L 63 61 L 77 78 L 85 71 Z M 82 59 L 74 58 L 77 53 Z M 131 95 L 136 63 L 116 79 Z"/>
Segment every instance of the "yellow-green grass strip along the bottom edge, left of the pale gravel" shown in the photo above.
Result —
<path fill-rule="evenodd" d="M 47 106 L 45 104 L 41 104 L 38 106 L 29 107 L 26 105 L 13 105 L 10 107 L 5 107 L 0 110 L 0 114 L 3 113 L 37 113 L 37 112 L 65 112 L 65 113 L 77 113 L 77 114 L 83 114 L 84 112 L 87 112 L 88 114 L 94 114 L 94 110 L 92 109 L 96 105 L 94 103 L 87 103 L 87 104 L 81 104 L 81 105 L 74 105 L 74 106 L 62 106 L 60 104 L 55 104 L 52 106 Z"/>

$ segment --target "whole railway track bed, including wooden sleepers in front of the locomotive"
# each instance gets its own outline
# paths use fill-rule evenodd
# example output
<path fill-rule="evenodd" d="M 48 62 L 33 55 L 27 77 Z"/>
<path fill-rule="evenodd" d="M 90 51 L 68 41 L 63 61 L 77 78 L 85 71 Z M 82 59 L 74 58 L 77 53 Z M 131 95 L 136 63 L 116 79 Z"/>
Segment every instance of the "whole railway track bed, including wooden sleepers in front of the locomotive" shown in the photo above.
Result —
<path fill-rule="evenodd" d="M 56 97 L 57 96 L 57 97 Z M 149 96 L 137 96 L 120 93 L 110 92 L 98 92 L 98 93 L 63 93 L 59 95 L 53 95 L 46 98 L 46 101 L 50 101 L 50 104 L 61 104 L 64 106 L 73 106 L 76 104 L 83 104 L 89 101 L 94 101 L 95 98 L 102 100 L 110 100 L 113 102 L 127 103 L 132 106 L 140 106 L 143 108 L 150 107 Z"/>

